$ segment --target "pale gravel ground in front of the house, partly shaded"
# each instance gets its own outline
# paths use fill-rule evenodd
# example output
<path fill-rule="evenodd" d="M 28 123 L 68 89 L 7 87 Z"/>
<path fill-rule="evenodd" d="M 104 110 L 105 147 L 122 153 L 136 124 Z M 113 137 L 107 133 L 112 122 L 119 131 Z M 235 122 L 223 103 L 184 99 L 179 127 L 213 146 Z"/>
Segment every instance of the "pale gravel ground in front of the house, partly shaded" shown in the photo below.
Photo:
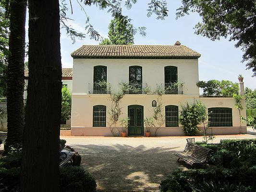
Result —
<path fill-rule="evenodd" d="M 63 136 L 82 156 L 81 166 L 96 178 L 98 191 L 158 191 L 160 181 L 175 169 L 174 151 L 184 149 L 187 137 L 73 137 Z M 217 136 L 220 139 L 255 138 L 254 135 Z M 196 137 L 195 141 L 202 141 Z"/>

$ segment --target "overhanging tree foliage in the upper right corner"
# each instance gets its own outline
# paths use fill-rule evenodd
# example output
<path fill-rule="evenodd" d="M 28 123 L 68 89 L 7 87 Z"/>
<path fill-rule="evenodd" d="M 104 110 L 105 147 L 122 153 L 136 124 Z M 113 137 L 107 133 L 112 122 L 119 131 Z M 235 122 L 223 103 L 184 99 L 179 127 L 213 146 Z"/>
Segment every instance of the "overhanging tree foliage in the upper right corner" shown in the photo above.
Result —
<path fill-rule="evenodd" d="M 211 40 L 230 37 L 235 47 L 244 50 L 243 61 L 256 75 L 255 17 L 256 0 L 182 0 L 177 17 L 198 12 L 202 22 L 195 25 L 195 33 Z"/>

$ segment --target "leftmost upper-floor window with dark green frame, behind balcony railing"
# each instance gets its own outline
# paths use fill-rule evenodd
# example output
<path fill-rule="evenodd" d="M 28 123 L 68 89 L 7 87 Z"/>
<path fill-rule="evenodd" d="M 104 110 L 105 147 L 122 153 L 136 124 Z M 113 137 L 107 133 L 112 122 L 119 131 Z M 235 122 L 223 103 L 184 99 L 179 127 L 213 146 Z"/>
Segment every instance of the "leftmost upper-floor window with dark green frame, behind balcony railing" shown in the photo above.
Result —
<path fill-rule="evenodd" d="M 107 82 L 107 66 L 95 66 L 93 70 L 93 93 L 106 94 L 107 85 L 100 82 Z"/>

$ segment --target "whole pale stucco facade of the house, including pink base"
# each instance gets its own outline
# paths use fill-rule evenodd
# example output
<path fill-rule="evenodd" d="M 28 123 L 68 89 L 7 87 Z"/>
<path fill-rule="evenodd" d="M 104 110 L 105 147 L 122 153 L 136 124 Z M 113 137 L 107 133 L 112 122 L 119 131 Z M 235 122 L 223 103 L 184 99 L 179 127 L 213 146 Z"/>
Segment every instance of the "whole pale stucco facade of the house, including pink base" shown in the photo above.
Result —
<path fill-rule="evenodd" d="M 235 102 L 231 97 L 199 97 L 198 59 L 73 59 L 73 94 L 72 94 L 72 135 L 84 136 L 112 136 L 109 127 L 108 111 L 111 107 L 109 94 L 89 94 L 89 83 L 93 83 L 94 67 L 107 67 L 107 82 L 111 85 L 111 93 L 120 91 L 120 82 L 129 81 L 129 67 L 142 67 L 142 82 L 146 83 L 151 90 L 155 90 L 157 84 L 164 84 L 164 68 L 175 66 L 178 71 L 178 81 L 183 82 L 183 94 L 163 95 L 163 113 L 165 106 L 178 106 L 200 99 L 207 108 L 232 108 L 232 127 L 213 127 L 214 134 L 237 134 L 240 133 L 240 116 L 234 107 Z M 128 106 L 143 106 L 143 118 L 153 115 L 153 100 L 158 101 L 154 94 L 126 94 L 123 96 L 120 107 L 122 115 L 120 119 L 128 116 Z M 244 102 L 244 101 L 243 101 Z M 93 106 L 106 106 L 106 127 L 93 127 Z M 245 106 L 245 103 L 244 103 Z M 245 117 L 245 110 L 242 114 Z M 121 127 L 121 125 L 118 125 Z M 121 128 L 119 128 L 121 129 Z M 145 130 L 144 130 L 145 132 Z M 153 133 L 154 131 L 152 131 Z M 242 132 L 246 132 L 246 123 L 242 122 Z M 159 136 L 184 135 L 182 127 L 165 127 L 158 130 Z M 200 134 L 200 132 L 198 132 Z"/>

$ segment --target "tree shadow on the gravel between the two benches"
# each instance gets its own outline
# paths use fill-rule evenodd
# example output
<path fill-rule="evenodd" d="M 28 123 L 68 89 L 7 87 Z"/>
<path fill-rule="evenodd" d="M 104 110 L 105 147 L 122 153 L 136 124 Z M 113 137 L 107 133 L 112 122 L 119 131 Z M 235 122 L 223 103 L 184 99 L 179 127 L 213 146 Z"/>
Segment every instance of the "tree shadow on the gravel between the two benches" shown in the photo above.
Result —
<path fill-rule="evenodd" d="M 133 147 L 126 144 L 72 145 L 81 166 L 96 178 L 98 190 L 158 191 L 160 181 L 174 169 L 185 169 L 173 152 L 178 147 Z"/>

